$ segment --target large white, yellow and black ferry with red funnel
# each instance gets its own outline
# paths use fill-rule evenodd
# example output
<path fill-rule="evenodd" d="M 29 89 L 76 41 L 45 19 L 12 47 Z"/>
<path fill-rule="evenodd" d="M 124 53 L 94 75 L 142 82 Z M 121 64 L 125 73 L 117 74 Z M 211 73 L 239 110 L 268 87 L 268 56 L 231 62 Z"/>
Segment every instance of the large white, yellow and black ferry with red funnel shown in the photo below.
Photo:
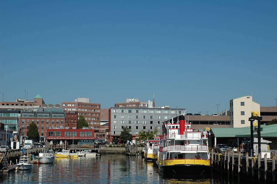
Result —
<path fill-rule="evenodd" d="M 179 123 L 180 120 L 180 123 Z M 209 174 L 212 171 L 207 132 L 193 131 L 183 115 L 163 125 L 156 164 L 161 172 Z"/>

